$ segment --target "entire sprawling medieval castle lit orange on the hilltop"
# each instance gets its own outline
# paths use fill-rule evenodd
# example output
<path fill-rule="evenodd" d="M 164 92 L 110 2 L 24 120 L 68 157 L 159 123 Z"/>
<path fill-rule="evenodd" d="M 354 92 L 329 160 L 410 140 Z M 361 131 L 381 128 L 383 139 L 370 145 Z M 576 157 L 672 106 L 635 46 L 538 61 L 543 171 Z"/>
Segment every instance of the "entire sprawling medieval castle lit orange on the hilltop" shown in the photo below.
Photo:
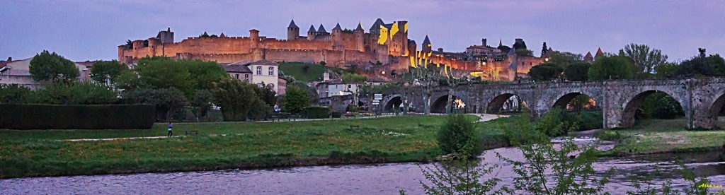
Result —
<path fill-rule="evenodd" d="M 361 23 L 354 30 L 343 29 L 337 24 L 331 32 L 323 25 L 316 29 L 312 25 L 307 30 L 307 36 L 301 36 L 299 30 L 292 20 L 287 27 L 286 40 L 260 36 L 259 30 L 252 29 L 249 30 L 249 37 L 228 37 L 222 33 L 219 36 L 186 38 L 175 43 L 174 32 L 169 28 L 160 31 L 154 38 L 119 45 L 118 60 L 132 64 L 144 56 L 167 56 L 218 63 L 325 61 L 328 66 L 338 67 L 383 64 L 373 67 L 383 71 L 436 64 L 471 71 L 471 75 L 485 79 L 513 80 L 517 73 L 528 72 L 531 66 L 540 64 L 544 58 L 516 56 L 513 52 L 515 48 L 526 48 L 521 39 L 517 39 L 514 48 L 508 50 L 505 49 L 508 46 L 501 44 L 498 48 L 492 48 L 486 45 L 484 39 L 482 45 L 473 45 L 463 53 L 447 53 L 441 48 L 433 51 L 426 35 L 418 51 L 415 40 L 408 38 L 407 21 L 386 24 L 378 18 L 368 32 L 363 30 Z"/>

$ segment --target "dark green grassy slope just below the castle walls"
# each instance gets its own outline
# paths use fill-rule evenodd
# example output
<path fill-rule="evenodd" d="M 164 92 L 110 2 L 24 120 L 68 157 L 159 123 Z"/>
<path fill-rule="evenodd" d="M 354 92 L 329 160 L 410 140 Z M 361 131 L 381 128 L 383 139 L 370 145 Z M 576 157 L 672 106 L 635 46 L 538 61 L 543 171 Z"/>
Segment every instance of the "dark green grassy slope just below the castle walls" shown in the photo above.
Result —
<path fill-rule="evenodd" d="M 305 68 L 307 66 L 307 68 Z M 301 62 L 280 63 L 279 69 L 286 75 L 302 82 L 322 81 L 322 74 L 326 70 L 343 71 L 336 67 L 322 66 L 320 64 L 305 64 Z"/>

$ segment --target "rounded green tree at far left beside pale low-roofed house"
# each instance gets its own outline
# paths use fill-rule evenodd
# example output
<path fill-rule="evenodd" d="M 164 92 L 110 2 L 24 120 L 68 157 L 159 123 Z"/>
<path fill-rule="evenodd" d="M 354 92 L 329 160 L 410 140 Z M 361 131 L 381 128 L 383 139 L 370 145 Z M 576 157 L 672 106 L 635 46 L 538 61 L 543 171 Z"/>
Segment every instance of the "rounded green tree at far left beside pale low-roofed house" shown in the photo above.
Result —
<path fill-rule="evenodd" d="M 30 60 L 30 75 L 37 82 L 62 82 L 70 84 L 80 76 L 75 64 L 53 52 L 43 51 Z"/>

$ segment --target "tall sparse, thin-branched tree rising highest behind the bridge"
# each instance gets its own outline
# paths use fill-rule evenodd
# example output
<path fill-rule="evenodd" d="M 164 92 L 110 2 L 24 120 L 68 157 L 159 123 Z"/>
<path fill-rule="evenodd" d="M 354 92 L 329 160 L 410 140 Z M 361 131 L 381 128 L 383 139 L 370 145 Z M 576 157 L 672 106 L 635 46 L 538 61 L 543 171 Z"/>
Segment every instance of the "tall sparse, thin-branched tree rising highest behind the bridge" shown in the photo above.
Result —
<path fill-rule="evenodd" d="M 631 58 L 637 73 L 653 73 L 655 66 L 667 62 L 667 55 L 658 49 L 650 49 L 649 45 L 630 43 L 619 50 L 619 55 Z"/>

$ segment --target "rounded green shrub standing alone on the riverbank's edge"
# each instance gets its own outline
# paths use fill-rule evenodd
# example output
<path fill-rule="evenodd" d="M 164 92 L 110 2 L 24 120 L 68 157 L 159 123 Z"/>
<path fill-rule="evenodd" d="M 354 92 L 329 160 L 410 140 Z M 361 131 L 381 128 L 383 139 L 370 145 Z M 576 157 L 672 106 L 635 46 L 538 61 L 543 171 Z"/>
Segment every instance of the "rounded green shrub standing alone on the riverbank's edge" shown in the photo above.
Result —
<path fill-rule="evenodd" d="M 438 131 L 436 141 L 444 154 L 476 156 L 481 152 L 477 135 L 473 121 L 464 114 L 455 114 L 448 116 L 446 123 Z"/>

